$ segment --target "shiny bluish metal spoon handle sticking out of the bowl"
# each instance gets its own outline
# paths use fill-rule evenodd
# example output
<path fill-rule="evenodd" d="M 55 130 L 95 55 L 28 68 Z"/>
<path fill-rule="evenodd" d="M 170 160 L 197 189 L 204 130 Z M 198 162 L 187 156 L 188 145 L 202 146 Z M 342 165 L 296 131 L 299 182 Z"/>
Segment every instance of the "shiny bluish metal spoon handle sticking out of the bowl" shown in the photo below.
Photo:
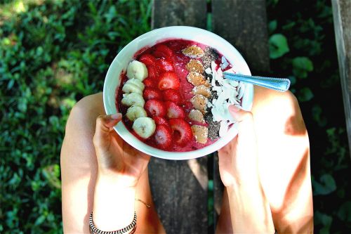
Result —
<path fill-rule="evenodd" d="M 285 78 L 255 77 L 248 76 L 245 74 L 234 74 L 229 72 L 223 72 L 223 75 L 226 79 L 255 84 L 258 86 L 263 86 L 265 88 L 274 89 L 281 92 L 287 91 L 290 86 L 290 80 Z"/>

